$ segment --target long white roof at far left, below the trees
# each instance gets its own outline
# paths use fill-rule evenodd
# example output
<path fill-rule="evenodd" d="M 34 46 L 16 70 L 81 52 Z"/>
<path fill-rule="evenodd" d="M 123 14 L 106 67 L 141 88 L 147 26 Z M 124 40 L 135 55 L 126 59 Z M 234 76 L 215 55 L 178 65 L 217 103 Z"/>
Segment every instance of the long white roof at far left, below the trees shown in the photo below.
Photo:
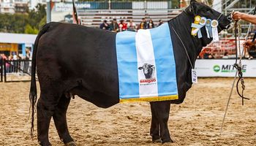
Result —
<path fill-rule="evenodd" d="M 0 33 L 0 43 L 34 44 L 35 34 Z"/>

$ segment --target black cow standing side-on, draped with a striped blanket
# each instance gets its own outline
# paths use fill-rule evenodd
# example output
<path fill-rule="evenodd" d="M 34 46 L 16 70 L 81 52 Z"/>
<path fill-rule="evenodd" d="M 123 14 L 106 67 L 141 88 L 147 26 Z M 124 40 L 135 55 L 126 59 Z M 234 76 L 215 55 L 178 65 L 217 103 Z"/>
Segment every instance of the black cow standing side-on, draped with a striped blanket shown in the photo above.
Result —
<path fill-rule="evenodd" d="M 192 37 L 191 23 L 195 15 L 219 20 L 219 31 L 230 24 L 227 16 L 210 7 L 192 1 L 176 18 L 168 21 L 187 47 L 192 65 L 203 46 L 212 39 Z M 181 104 L 191 88 L 191 66 L 184 46 L 170 27 L 176 61 L 178 99 L 150 102 L 151 129 L 154 142 L 173 142 L 167 128 L 170 104 Z M 31 134 L 34 129 L 34 107 L 37 101 L 35 72 L 40 85 L 37 101 L 37 138 L 40 145 L 50 145 L 48 130 L 53 117 L 59 137 L 66 145 L 75 145 L 67 128 L 67 107 L 70 97 L 80 96 L 86 101 L 107 108 L 118 104 L 118 71 L 116 61 L 116 33 L 66 23 L 48 23 L 39 32 L 32 61 L 30 101 L 32 107 Z"/>

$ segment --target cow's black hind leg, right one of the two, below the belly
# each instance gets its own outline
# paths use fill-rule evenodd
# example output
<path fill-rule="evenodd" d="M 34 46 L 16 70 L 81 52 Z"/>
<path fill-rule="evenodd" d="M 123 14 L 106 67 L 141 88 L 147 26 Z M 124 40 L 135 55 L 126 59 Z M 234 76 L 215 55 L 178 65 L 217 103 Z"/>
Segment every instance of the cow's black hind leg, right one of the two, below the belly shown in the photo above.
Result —
<path fill-rule="evenodd" d="M 53 120 L 57 128 L 59 137 L 61 138 L 61 141 L 63 141 L 65 145 L 72 146 L 75 145 L 75 142 L 69 135 L 66 117 L 67 107 L 69 106 L 70 99 L 71 98 L 64 95 L 61 96 L 58 107 L 56 107 L 56 110 L 53 114 Z"/>

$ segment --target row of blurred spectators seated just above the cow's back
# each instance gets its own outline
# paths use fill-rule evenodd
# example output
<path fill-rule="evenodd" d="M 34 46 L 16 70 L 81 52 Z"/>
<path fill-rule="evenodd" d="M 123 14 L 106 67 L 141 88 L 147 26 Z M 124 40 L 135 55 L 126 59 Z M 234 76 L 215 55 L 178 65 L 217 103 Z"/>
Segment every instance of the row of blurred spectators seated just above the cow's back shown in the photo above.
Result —
<path fill-rule="evenodd" d="M 162 20 L 159 20 L 159 23 L 157 26 L 161 26 L 163 23 Z M 120 31 L 138 31 L 139 29 L 148 29 L 148 28 L 154 28 L 157 27 L 153 20 L 146 20 L 146 18 L 142 18 L 140 24 L 136 24 L 133 22 L 133 20 L 120 20 L 117 22 L 116 18 L 111 20 L 110 23 L 108 23 L 107 20 L 103 20 L 103 22 L 100 24 L 99 28 L 105 29 L 108 31 L 113 32 L 120 32 Z"/>

